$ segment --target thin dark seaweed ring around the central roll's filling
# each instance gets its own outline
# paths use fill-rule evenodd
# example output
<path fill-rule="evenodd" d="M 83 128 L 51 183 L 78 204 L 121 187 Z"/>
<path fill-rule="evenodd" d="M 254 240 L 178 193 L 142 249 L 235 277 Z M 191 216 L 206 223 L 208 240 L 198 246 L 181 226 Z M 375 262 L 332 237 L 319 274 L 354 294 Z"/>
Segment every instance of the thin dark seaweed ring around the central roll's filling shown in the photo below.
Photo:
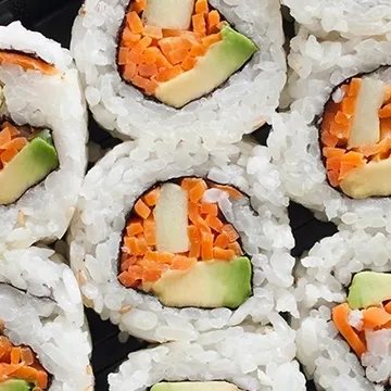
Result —
<path fill-rule="evenodd" d="M 198 177 L 198 176 L 173 177 L 173 178 L 168 178 L 167 180 L 164 180 L 164 181 L 157 181 L 157 182 L 155 182 L 153 186 L 151 186 L 150 188 L 148 188 L 143 193 L 141 193 L 141 194 L 136 199 L 136 202 L 137 202 L 138 200 L 140 200 L 143 195 L 148 194 L 151 190 L 153 190 L 153 189 L 155 189 L 155 188 L 157 188 L 157 187 L 161 187 L 161 186 L 163 186 L 164 184 L 172 182 L 172 184 L 180 185 L 181 180 L 185 179 L 185 178 L 198 178 L 198 179 L 203 179 L 203 180 L 205 180 L 206 182 L 210 182 L 210 184 L 223 185 L 223 186 L 225 186 L 225 185 L 231 186 L 232 188 L 235 188 L 235 189 L 237 189 L 238 191 L 240 191 L 240 192 L 243 194 L 243 197 L 245 197 L 245 198 L 248 199 L 250 210 L 251 210 L 252 212 L 254 212 L 254 214 L 256 214 L 255 210 L 254 210 L 253 206 L 251 205 L 251 199 L 250 199 L 250 197 L 249 197 L 245 192 L 243 192 L 242 190 L 240 190 L 237 186 L 234 186 L 234 185 L 230 185 L 230 184 L 218 184 L 218 182 L 216 182 L 216 181 L 212 181 L 212 180 L 210 180 L 210 179 L 205 179 L 205 178 Z M 136 202 L 135 202 L 135 204 L 136 204 Z M 125 236 L 126 236 L 126 234 L 127 234 L 127 232 L 126 232 L 126 228 L 127 228 L 128 223 L 129 223 L 129 220 L 130 220 L 130 218 L 131 218 L 133 215 L 134 215 L 134 205 L 131 206 L 130 212 L 128 212 L 127 215 L 126 215 L 126 217 L 125 217 L 125 227 L 124 227 L 124 229 L 123 229 L 123 231 L 122 231 L 119 250 L 118 250 L 118 256 L 117 256 L 117 276 L 119 276 L 119 274 L 121 274 L 122 248 L 124 247 Z M 228 220 L 224 217 L 224 215 L 223 215 L 223 213 L 222 213 L 222 211 L 220 211 L 219 209 L 218 209 L 218 216 L 219 216 L 219 218 L 220 218 L 222 220 L 226 220 L 227 223 L 234 225 L 234 223 L 228 222 Z M 235 227 L 235 225 L 234 225 L 234 227 Z M 251 256 L 249 256 L 249 255 L 244 252 L 241 235 L 240 235 L 239 232 L 238 232 L 238 235 L 239 235 L 238 242 L 239 242 L 239 245 L 240 245 L 241 250 L 243 251 L 243 256 L 248 256 L 249 258 L 251 258 Z M 250 262 L 250 264 L 251 264 L 251 262 Z M 252 295 L 253 295 L 253 293 L 254 293 L 254 292 L 253 292 L 253 283 L 252 283 L 253 278 L 254 278 L 254 268 L 253 268 L 253 265 L 251 264 L 251 293 L 252 293 Z M 119 281 L 119 279 L 118 279 L 118 283 L 122 285 L 123 287 L 125 287 L 125 286 Z M 144 291 L 142 291 L 141 289 L 138 289 L 138 288 L 129 288 L 129 287 L 125 287 L 125 288 L 126 288 L 126 289 L 134 289 L 135 291 L 137 291 L 138 293 L 143 294 L 143 295 L 149 295 L 149 297 L 156 298 L 154 294 L 152 294 L 152 293 L 150 293 L 150 292 L 144 292 Z M 156 300 L 159 300 L 159 299 L 156 298 Z M 163 304 L 162 304 L 162 305 L 163 305 Z M 165 306 L 165 305 L 163 305 L 163 306 Z M 167 306 L 167 307 L 168 307 L 168 306 Z M 194 306 L 185 306 L 185 307 L 169 306 L 169 308 L 199 308 L 199 307 L 194 307 Z M 236 310 L 236 308 L 238 308 L 238 307 L 231 308 L 231 307 L 220 306 L 219 308 Z M 214 310 L 214 307 L 202 307 L 202 310 L 205 310 L 205 311 L 207 311 L 207 310 Z"/>

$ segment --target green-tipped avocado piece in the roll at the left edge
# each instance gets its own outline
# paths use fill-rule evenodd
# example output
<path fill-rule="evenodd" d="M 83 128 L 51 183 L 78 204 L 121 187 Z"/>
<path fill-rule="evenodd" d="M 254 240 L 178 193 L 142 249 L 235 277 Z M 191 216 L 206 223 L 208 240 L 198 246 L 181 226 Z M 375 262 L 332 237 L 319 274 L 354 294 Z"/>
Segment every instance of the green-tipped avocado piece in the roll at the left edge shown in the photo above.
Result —
<path fill-rule="evenodd" d="M 15 202 L 58 166 L 51 135 L 42 130 L 0 171 L 0 205 Z"/>

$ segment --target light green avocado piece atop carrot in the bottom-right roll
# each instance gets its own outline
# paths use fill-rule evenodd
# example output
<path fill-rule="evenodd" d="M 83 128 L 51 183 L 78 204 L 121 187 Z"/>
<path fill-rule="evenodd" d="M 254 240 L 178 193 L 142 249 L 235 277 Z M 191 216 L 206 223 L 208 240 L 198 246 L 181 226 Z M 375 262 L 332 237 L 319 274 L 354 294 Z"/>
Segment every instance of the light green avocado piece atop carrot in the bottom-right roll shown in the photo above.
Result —
<path fill-rule="evenodd" d="M 379 305 L 391 300 L 391 275 L 376 272 L 362 272 L 353 277 L 349 288 L 348 304 L 353 310 Z"/>

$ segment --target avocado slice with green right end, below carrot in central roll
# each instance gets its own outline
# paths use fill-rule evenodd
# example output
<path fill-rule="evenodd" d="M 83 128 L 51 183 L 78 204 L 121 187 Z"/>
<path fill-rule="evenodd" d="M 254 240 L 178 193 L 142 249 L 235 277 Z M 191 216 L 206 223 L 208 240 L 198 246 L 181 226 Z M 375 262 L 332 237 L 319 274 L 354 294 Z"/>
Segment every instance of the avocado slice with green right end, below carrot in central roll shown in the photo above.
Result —
<path fill-rule="evenodd" d="M 152 292 L 166 306 L 237 308 L 252 293 L 251 263 L 248 257 L 234 261 L 202 261 L 190 270 L 169 270 L 152 286 Z"/>

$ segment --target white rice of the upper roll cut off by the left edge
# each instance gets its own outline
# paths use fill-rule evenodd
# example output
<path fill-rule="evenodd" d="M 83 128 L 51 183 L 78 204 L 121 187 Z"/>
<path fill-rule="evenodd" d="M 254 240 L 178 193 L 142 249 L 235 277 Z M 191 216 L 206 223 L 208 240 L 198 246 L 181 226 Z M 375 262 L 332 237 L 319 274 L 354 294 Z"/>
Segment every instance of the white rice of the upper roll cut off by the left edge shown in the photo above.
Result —
<path fill-rule="evenodd" d="M 77 71 L 68 51 L 20 23 L 0 27 L 0 50 L 36 53 L 61 71 L 59 76 L 0 66 L 8 114 L 20 125 L 49 127 L 60 168 L 18 201 L 0 206 L 0 251 L 61 238 L 73 216 L 86 168 L 87 118 Z M 17 180 L 17 178 L 15 178 Z"/>

